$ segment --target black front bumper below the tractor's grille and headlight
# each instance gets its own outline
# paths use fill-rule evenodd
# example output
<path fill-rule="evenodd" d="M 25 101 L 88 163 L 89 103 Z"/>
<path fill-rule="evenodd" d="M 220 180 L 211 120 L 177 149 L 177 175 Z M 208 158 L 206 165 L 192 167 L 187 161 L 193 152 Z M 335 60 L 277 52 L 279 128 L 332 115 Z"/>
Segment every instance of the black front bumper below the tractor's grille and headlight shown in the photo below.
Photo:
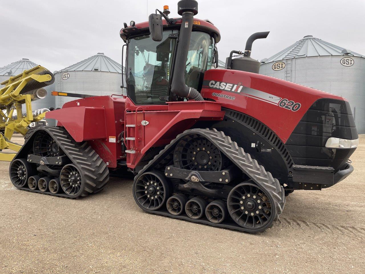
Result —
<path fill-rule="evenodd" d="M 353 171 L 354 168 L 349 163 L 337 172 L 333 167 L 293 165 L 293 189 L 321 190 L 341 182 Z"/>

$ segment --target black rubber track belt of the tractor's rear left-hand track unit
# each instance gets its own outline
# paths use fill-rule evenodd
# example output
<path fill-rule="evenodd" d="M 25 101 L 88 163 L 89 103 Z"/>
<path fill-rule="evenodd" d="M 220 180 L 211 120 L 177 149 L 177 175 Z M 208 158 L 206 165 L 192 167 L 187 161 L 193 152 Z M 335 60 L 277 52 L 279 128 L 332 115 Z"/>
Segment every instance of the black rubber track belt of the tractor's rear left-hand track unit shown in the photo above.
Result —
<path fill-rule="evenodd" d="M 27 158 L 29 152 L 29 145 L 27 145 L 27 142 L 32 142 L 34 139 L 32 136 L 39 132 L 39 130 L 43 130 L 44 132 L 50 134 L 50 136 L 58 144 L 59 148 L 65 152 L 72 163 L 76 165 L 78 170 L 80 170 L 82 182 L 85 184 L 85 186 L 79 196 L 87 196 L 88 194 L 96 193 L 103 189 L 109 180 L 109 170 L 107 165 L 87 142 L 76 142 L 63 127 L 37 126 L 32 128 L 27 132 L 25 143 L 14 159 Z M 30 189 L 26 190 L 32 191 Z M 47 191 L 46 194 L 51 193 Z M 51 195 L 68 197 L 68 195 L 65 193 Z"/>

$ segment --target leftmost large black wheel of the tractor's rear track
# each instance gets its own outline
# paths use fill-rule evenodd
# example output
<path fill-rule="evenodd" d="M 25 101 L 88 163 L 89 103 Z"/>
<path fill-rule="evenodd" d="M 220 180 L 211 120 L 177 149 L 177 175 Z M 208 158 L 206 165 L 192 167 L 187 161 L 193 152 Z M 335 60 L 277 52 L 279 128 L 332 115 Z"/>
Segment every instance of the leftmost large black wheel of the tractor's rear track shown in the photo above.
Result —
<path fill-rule="evenodd" d="M 23 187 L 33 175 L 33 169 L 26 159 L 16 159 L 9 167 L 10 180 L 15 187 Z"/>

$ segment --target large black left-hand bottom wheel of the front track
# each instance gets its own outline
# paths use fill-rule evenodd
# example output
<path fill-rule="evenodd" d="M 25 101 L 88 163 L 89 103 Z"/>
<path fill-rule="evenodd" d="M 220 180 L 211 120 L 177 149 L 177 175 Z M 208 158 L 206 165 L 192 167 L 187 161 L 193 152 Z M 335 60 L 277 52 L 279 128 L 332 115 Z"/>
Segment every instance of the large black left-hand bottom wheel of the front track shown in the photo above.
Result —
<path fill-rule="evenodd" d="M 161 208 L 169 195 L 170 186 L 161 172 L 145 172 L 134 179 L 133 197 L 142 209 Z"/>

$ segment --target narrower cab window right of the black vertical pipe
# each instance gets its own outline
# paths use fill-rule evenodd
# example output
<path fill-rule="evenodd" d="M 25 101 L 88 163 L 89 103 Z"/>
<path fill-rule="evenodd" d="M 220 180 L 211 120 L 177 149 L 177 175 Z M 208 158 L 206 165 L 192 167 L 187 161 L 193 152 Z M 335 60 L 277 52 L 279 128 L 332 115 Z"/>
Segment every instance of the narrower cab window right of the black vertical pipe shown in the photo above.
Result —
<path fill-rule="evenodd" d="M 204 72 L 212 67 L 213 49 L 213 38 L 209 34 L 199 31 L 191 33 L 185 71 L 185 83 L 188 87 L 201 90 Z"/>

